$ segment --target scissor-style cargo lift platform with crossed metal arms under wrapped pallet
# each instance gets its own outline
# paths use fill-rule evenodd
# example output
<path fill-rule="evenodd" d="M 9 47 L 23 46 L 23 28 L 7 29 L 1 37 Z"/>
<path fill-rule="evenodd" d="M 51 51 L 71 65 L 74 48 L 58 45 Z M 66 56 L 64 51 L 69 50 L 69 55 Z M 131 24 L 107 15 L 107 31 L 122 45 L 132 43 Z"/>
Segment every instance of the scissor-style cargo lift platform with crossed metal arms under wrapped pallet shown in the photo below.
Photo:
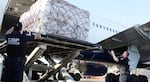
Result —
<path fill-rule="evenodd" d="M 1 52 L 5 52 L 6 41 L 0 44 L 0 48 Z M 35 81 L 38 82 L 47 81 L 58 71 L 63 73 L 66 79 L 66 77 L 70 76 L 68 76 L 67 71 L 64 71 L 62 68 L 77 57 L 80 51 L 92 49 L 97 49 L 97 47 L 86 41 L 58 35 L 42 35 L 41 40 L 28 42 L 25 73 L 29 81 L 32 81 L 33 72 L 42 72 L 42 74 L 35 79 Z M 59 63 L 56 63 L 53 61 L 53 56 L 62 57 L 63 59 Z M 43 57 L 49 65 L 38 63 L 38 58 L 41 57 Z"/>

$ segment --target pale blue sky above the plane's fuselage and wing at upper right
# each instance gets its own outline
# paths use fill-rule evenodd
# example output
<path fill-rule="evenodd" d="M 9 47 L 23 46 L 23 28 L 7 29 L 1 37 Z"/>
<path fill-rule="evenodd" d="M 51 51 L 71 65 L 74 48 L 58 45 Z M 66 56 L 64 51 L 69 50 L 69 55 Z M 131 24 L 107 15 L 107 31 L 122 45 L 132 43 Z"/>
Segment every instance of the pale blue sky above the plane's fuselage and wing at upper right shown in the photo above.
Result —
<path fill-rule="evenodd" d="M 150 21 L 150 0 L 66 0 L 126 26 Z"/>

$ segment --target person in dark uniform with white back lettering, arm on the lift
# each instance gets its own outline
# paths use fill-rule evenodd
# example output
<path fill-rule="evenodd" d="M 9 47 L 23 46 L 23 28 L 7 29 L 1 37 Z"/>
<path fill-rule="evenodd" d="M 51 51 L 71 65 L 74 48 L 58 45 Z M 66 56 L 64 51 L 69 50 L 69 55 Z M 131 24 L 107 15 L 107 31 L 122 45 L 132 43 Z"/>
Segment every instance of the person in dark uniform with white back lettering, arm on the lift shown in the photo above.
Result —
<path fill-rule="evenodd" d="M 2 82 L 22 82 L 25 64 L 27 41 L 39 39 L 40 35 L 26 35 L 22 33 L 22 24 L 17 22 L 14 27 L 6 32 L 7 58 L 5 61 Z"/>

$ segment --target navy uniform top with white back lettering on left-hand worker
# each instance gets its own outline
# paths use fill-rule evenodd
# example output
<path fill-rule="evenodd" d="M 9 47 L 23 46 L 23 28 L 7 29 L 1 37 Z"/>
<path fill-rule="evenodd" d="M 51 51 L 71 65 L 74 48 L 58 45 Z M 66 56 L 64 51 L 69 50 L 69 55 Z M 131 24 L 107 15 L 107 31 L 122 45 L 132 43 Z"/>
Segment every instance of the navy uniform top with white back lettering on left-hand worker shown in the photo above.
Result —
<path fill-rule="evenodd" d="M 8 57 L 25 57 L 27 41 L 33 41 L 34 36 L 14 31 L 6 35 Z"/>

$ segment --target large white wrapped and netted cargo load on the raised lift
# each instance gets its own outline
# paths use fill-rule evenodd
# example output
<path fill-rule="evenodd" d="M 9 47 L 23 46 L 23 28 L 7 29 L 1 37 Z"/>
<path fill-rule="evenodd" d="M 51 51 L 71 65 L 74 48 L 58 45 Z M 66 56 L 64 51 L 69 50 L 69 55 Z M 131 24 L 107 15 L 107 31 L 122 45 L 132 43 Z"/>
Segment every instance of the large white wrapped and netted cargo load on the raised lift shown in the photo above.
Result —
<path fill-rule="evenodd" d="M 23 29 L 85 40 L 89 12 L 63 0 L 38 0 L 20 16 Z"/>

